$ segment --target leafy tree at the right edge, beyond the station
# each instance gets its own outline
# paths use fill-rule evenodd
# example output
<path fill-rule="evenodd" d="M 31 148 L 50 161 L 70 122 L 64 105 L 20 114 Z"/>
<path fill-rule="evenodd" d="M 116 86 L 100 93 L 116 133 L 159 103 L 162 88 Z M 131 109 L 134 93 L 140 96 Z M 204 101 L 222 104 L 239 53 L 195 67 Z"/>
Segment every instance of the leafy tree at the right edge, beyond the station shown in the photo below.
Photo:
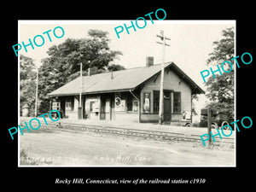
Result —
<path fill-rule="evenodd" d="M 234 28 L 222 31 L 223 38 L 214 41 L 213 52 L 207 60 L 207 65 L 216 66 L 234 57 Z M 229 71 L 230 66 L 224 66 Z M 207 107 L 216 109 L 218 112 L 229 113 L 234 116 L 234 67 L 230 73 L 216 75 L 207 80 L 207 98 L 211 103 Z"/>

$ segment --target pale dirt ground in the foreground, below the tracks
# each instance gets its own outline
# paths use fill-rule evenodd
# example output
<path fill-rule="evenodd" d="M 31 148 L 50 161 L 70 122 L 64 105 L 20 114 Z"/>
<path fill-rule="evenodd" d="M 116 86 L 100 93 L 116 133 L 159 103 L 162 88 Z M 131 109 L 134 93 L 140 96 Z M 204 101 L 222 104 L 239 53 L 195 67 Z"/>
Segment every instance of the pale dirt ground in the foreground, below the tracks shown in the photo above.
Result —
<path fill-rule="evenodd" d="M 157 141 L 40 128 L 20 135 L 20 166 L 236 166 L 233 144 Z"/>

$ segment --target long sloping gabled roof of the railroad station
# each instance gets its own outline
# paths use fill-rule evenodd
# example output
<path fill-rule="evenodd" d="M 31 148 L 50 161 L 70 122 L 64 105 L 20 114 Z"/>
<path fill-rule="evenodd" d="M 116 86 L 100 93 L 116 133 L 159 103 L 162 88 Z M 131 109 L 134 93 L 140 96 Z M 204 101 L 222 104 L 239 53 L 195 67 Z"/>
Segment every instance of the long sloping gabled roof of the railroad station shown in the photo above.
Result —
<path fill-rule="evenodd" d="M 188 75 L 177 67 L 173 62 L 166 62 L 165 69 L 177 73 L 177 75 L 186 81 L 191 87 L 193 94 L 205 93 L 195 82 L 189 78 Z M 121 71 L 114 71 L 109 73 L 98 73 L 91 76 L 83 76 L 83 90 L 82 94 L 96 94 L 108 92 L 120 92 L 135 90 L 145 81 L 160 73 L 161 65 L 153 65 L 150 67 L 136 67 L 125 69 Z M 113 79 L 111 78 L 113 77 Z M 73 96 L 80 93 L 80 77 L 61 86 L 59 89 L 52 91 L 48 96 Z"/>

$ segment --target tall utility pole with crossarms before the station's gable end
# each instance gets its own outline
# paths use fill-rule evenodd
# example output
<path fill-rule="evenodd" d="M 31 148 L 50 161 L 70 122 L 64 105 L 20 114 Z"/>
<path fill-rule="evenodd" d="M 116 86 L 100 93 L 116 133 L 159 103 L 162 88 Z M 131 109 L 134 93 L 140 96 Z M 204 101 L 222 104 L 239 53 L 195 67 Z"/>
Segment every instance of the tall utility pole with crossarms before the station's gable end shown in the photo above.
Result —
<path fill-rule="evenodd" d="M 162 65 L 161 65 L 161 79 L 160 79 L 160 102 L 159 102 L 159 124 L 163 123 L 164 120 L 164 73 L 165 73 L 165 49 L 166 46 L 170 46 L 166 44 L 166 40 L 171 40 L 170 38 L 166 38 L 164 35 L 164 31 L 160 31 L 160 35 L 156 35 L 156 37 L 160 38 L 161 42 L 156 42 L 157 44 L 162 44 Z"/>

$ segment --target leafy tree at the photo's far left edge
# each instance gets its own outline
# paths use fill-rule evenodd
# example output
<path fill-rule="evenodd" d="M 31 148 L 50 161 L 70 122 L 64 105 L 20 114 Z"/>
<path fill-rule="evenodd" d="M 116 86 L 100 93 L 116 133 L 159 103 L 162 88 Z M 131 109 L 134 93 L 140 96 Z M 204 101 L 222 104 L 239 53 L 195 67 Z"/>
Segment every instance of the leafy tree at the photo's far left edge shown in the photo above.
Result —
<path fill-rule="evenodd" d="M 21 108 L 28 104 L 30 115 L 34 113 L 36 99 L 36 72 L 32 58 L 20 54 L 20 113 Z"/>

